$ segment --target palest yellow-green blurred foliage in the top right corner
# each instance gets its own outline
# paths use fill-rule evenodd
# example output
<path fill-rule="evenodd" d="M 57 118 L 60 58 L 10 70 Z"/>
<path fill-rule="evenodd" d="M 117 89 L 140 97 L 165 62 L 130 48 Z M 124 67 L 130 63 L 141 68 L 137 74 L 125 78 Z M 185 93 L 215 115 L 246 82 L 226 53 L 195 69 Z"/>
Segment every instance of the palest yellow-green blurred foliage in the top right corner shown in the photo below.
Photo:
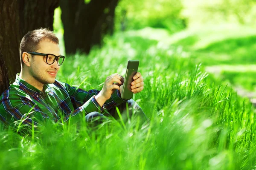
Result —
<path fill-rule="evenodd" d="M 184 0 L 184 17 L 190 26 L 238 23 L 255 26 L 255 0 Z"/>

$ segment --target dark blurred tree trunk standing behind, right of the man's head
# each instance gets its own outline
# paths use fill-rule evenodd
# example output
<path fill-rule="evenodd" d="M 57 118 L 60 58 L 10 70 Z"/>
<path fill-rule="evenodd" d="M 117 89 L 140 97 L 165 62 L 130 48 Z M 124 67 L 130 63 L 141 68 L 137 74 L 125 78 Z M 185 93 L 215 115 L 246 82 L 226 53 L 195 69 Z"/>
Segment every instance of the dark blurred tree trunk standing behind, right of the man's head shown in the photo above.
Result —
<path fill-rule="evenodd" d="M 113 34 L 113 18 L 118 0 L 61 0 L 66 54 L 76 50 L 89 53 L 100 45 L 102 35 Z"/>

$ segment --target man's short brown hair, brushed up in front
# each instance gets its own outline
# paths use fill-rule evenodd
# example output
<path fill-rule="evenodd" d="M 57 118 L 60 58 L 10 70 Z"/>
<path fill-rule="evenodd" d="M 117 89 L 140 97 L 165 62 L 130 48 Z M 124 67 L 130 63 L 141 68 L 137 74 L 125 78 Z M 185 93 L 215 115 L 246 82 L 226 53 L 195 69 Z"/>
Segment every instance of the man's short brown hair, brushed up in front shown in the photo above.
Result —
<path fill-rule="evenodd" d="M 39 46 L 39 42 L 44 40 L 44 39 L 49 39 L 50 41 L 58 44 L 59 40 L 53 34 L 53 31 L 50 31 L 47 28 L 40 28 L 40 29 L 35 29 L 34 31 L 29 31 L 21 40 L 20 42 L 20 63 L 21 67 L 23 67 L 24 63 L 22 60 L 22 54 L 23 52 L 28 52 L 28 51 L 37 51 Z"/>

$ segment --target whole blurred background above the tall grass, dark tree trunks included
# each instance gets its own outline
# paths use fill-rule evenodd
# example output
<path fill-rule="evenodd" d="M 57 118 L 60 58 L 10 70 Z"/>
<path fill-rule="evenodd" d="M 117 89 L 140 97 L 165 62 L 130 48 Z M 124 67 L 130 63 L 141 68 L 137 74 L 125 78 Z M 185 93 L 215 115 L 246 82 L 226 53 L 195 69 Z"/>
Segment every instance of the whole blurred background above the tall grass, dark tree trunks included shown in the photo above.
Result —
<path fill-rule="evenodd" d="M 256 97 L 256 0 L 2 0 L 0 5 L 0 46 L 11 82 L 20 72 L 21 38 L 47 27 L 67 58 L 95 57 L 96 49 L 106 49 L 106 61 L 121 54 L 125 62 L 143 60 L 144 52 L 161 59 L 160 49 L 167 58 L 178 53 L 202 63 L 242 96 Z"/>

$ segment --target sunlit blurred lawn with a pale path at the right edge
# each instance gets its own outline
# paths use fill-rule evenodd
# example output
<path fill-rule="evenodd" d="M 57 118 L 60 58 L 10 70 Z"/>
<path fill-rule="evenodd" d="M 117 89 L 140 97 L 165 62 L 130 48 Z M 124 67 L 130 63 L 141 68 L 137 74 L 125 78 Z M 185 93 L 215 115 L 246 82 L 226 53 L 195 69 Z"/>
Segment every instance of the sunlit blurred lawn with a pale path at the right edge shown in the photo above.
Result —
<path fill-rule="evenodd" d="M 213 28 L 183 31 L 170 40 L 174 39 L 174 45 L 181 45 L 192 58 L 204 66 L 215 68 L 215 65 L 225 65 L 209 70 L 212 70 L 213 74 L 223 72 L 221 79 L 228 79 L 233 86 L 239 85 L 253 91 L 255 69 L 250 66 L 256 63 L 255 29 L 241 26 Z M 244 70 L 240 69 L 241 65 L 244 65 Z M 239 71 L 230 71 L 230 67 L 239 68 Z"/>

